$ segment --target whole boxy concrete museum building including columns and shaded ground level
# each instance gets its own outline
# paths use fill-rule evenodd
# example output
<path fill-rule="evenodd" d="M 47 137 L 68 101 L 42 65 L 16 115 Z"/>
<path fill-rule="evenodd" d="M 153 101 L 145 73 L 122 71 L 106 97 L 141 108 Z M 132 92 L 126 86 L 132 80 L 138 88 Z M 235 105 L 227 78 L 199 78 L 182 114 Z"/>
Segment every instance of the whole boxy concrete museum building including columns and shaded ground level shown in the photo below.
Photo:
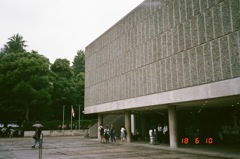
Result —
<path fill-rule="evenodd" d="M 99 124 L 124 114 L 144 137 L 167 124 L 171 148 L 240 143 L 239 0 L 145 0 L 85 60 L 84 113 Z"/>

